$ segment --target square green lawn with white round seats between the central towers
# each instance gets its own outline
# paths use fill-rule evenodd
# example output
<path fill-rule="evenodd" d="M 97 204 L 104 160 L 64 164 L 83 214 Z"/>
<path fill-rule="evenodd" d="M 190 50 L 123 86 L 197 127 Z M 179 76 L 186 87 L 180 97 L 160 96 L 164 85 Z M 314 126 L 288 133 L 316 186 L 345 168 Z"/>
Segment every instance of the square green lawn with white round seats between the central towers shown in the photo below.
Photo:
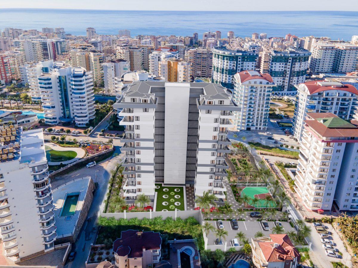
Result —
<path fill-rule="evenodd" d="M 157 193 L 155 211 L 162 211 L 163 209 L 173 211 L 175 210 L 175 208 L 179 210 L 184 210 L 183 187 L 163 186 L 161 183 L 156 183 L 155 186 L 160 187 L 159 189 L 155 189 L 155 192 Z M 167 192 L 164 192 L 165 188 L 168 189 Z M 175 192 L 175 189 L 179 189 L 179 192 Z M 163 195 L 168 195 L 168 197 L 164 198 Z M 180 198 L 175 198 L 175 195 L 180 195 Z M 163 205 L 163 202 L 168 202 L 168 205 Z M 175 202 L 180 202 L 180 205 L 175 205 Z"/>

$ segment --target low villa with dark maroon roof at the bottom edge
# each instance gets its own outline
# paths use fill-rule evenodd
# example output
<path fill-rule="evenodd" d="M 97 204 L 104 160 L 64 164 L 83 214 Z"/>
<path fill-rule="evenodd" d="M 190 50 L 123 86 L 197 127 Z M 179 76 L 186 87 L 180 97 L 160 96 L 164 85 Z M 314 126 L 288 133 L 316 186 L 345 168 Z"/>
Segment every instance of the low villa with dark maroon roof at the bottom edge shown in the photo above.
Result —
<path fill-rule="evenodd" d="M 115 267 L 153 267 L 161 259 L 160 233 L 127 230 L 113 243 Z"/>

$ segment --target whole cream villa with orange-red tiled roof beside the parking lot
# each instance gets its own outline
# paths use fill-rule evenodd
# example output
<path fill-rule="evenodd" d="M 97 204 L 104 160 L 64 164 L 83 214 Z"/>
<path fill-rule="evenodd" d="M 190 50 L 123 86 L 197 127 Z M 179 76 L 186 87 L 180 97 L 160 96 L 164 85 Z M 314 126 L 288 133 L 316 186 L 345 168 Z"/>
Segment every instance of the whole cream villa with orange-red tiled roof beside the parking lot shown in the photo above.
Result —
<path fill-rule="evenodd" d="M 300 253 L 287 234 L 251 238 L 252 262 L 257 268 L 295 268 Z"/>

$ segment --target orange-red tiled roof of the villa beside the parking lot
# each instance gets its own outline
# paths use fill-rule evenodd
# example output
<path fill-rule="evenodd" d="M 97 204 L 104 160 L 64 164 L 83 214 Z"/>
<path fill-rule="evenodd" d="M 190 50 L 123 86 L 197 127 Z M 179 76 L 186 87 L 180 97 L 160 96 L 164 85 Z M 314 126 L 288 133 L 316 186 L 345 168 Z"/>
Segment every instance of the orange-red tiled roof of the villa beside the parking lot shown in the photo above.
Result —
<path fill-rule="evenodd" d="M 267 262 L 284 262 L 300 256 L 287 234 L 270 234 L 270 238 L 269 242 L 258 242 Z"/>

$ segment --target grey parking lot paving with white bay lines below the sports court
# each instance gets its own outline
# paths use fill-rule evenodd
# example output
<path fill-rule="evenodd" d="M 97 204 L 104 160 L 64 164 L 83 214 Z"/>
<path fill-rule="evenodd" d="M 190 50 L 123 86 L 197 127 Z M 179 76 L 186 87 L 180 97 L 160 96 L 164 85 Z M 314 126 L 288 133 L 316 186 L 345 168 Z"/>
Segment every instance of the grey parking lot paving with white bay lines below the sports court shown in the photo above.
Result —
<path fill-rule="evenodd" d="M 210 222 L 215 229 L 218 229 L 218 224 L 216 220 L 209 220 L 208 222 Z M 255 234 L 257 232 L 262 232 L 265 236 L 269 236 L 269 234 L 272 233 L 272 228 L 275 226 L 274 222 L 268 222 L 269 223 L 269 227 L 270 230 L 263 230 L 262 229 L 262 225 L 260 222 L 256 221 L 256 219 L 252 219 L 250 221 L 246 220 L 246 221 L 238 221 L 238 230 L 233 230 L 232 226 L 231 226 L 231 222 L 229 220 L 223 220 L 223 224 L 224 224 L 224 230 L 227 230 L 228 232 L 228 236 L 226 238 L 228 245 L 231 245 L 231 240 L 233 238 L 236 237 L 236 234 L 240 231 L 242 231 L 245 235 L 246 235 L 246 239 L 248 239 L 249 241 L 251 240 L 251 238 L 255 238 Z M 295 228 L 292 228 L 291 225 L 288 222 L 281 222 L 284 229 L 285 229 L 285 233 L 290 232 L 290 231 L 295 231 Z M 214 232 L 210 232 L 208 235 L 208 245 L 214 245 L 216 242 L 216 234 L 215 231 Z"/>

